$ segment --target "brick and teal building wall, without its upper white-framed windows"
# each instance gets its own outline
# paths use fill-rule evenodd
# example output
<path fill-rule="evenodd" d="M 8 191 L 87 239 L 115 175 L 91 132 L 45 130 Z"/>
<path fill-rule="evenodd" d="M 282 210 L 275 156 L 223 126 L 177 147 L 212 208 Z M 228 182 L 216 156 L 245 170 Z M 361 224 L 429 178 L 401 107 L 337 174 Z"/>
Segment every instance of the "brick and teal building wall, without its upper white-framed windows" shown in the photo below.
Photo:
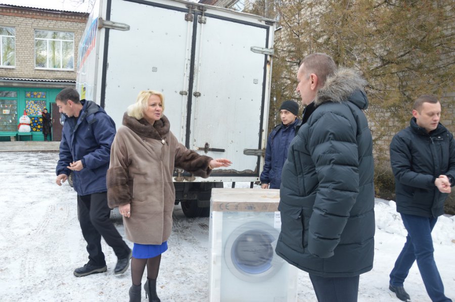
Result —
<path fill-rule="evenodd" d="M 82 37 L 86 13 L 0 5 L 0 26 L 15 28 L 14 67 L 0 66 L 0 141 L 43 140 L 41 110 L 53 115 L 53 130 L 61 131 L 55 96 L 76 81 L 78 45 Z M 68 31 L 74 33 L 74 68 L 52 70 L 35 68 L 35 30 Z M 55 111 L 55 112 L 53 112 Z M 30 118 L 31 131 L 19 132 L 20 118 Z M 56 138 L 57 137 L 57 138 Z M 59 140 L 56 135 L 53 139 Z"/>

